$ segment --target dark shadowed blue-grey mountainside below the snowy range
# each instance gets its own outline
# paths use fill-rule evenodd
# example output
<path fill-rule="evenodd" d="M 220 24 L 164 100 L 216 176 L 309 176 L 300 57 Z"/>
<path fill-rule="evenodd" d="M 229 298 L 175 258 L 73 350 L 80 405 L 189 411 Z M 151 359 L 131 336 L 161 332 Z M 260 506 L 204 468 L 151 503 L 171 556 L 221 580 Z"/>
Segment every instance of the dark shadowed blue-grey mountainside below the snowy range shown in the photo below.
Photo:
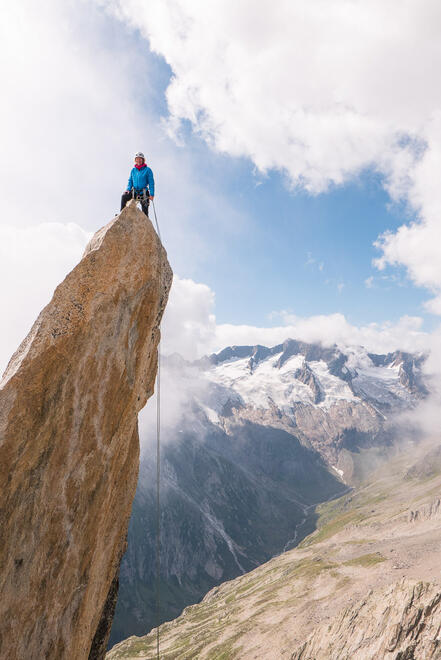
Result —
<path fill-rule="evenodd" d="M 231 436 L 187 429 L 165 444 L 162 465 L 163 620 L 301 540 L 313 504 L 346 490 L 294 436 L 252 424 Z M 155 621 L 154 466 L 140 472 L 111 641 Z"/>

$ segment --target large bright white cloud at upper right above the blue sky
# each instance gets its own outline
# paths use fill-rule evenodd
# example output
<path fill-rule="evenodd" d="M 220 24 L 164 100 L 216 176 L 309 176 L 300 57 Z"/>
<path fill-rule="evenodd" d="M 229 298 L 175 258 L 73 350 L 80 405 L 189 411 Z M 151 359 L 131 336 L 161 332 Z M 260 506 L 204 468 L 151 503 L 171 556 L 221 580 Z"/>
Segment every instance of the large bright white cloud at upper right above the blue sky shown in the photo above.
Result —
<path fill-rule="evenodd" d="M 313 193 L 364 168 L 419 219 L 383 236 L 441 313 L 438 0 L 100 0 L 170 65 L 168 124 Z"/>

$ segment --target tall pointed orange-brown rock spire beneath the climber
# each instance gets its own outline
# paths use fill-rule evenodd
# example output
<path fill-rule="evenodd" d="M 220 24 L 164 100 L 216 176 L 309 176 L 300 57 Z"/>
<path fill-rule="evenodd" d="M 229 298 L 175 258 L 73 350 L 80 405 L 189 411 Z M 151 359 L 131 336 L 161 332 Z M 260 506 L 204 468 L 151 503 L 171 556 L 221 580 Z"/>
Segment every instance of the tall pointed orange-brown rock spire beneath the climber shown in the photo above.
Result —
<path fill-rule="evenodd" d="M 57 287 L 0 383 L 0 657 L 101 658 L 172 273 L 131 203 Z"/>

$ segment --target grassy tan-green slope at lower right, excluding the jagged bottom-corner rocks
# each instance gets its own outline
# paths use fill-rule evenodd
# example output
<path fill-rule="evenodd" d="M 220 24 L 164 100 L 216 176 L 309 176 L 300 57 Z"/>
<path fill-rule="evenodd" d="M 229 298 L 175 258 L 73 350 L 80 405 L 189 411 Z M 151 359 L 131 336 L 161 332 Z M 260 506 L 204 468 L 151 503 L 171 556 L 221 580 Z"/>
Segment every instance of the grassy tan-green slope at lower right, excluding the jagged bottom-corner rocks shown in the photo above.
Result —
<path fill-rule="evenodd" d="M 426 471 L 419 469 L 409 480 L 409 466 L 409 456 L 395 457 L 358 490 L 319 505 L 317 530 L 298 548 L 223 583 L 200 604 L 161 626 L 161 657 L 282 657 L 282 644 L 286 650 L 292 642 L 295 650 L 316 625 L 351 607 L 360 593 L 401 578 L 412 562 L 424 564 L 425 553 L 415 553 L 418 534 L 427 533 L 427 524 L 434 534 L 441 534 L 439 520 L 419 527 L 409 523 L 408 512 L 430 507 L 441 493 L 441 479 L 437 484 L 428 481 Z M 438 574 L 438 558 L 432 563 Z M 108 658 L 150 659 L 153 642 L 154 632 L 141 640 L 126 640 Z"/>

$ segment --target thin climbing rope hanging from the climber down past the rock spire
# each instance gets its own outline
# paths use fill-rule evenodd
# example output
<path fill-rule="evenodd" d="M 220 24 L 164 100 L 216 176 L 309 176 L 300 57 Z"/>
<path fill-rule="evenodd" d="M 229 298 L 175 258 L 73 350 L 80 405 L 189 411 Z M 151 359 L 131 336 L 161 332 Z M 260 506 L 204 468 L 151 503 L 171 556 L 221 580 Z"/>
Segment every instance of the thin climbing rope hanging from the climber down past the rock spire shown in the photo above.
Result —
<path fill-rule="evenodd" d="M 162 271 L 162 241 L 159 231 L 158 217 L 156 215 L 155 202 L 152 199 L 153 212 L 155 214 L 156 231 L 158 233 L 159 250 L 159 290 L 161 290 Z M 159 660 L 159 625 L 161 613 L 161 501 L 160 501 L 160 479 L 161 479 L 161 338 L 158 344 L 158 369 L 156 376 L 156 657 Z"/>

